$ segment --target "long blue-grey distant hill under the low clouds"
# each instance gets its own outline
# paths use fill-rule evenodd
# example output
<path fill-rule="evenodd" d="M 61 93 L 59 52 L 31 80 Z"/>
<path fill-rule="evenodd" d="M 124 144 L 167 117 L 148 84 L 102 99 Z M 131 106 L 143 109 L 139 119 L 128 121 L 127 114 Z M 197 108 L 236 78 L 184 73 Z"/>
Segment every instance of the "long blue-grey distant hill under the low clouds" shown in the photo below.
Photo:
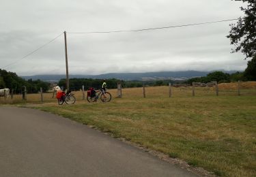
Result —
<path fill-rule="evenodd" d="M 109 73 L 100 75 L 70 75 L 69 78 L 116 78 L 119 80 L 186 80 L 206 76 L 212 71 L 162 71 L 162 72 L 147 72 L 147 73 Z M 224 71 L 226 73 L 234 73 L 236 71 Z M 25 80 L 43 80 L 47 82 L 59 82 L 66 75 L 35 75 L 35 76 L 20 76 Z"/>

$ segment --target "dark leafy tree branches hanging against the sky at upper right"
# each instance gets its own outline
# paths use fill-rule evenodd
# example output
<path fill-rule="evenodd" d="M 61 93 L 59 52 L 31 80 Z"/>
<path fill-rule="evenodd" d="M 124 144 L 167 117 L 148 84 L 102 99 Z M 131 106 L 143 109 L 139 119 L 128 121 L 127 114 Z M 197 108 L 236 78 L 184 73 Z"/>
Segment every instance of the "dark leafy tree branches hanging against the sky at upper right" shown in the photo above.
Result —
<path fill-rule="evenodd" d="M 238 18 L 237 24 L 231 24 L 228 38 L 235 46 L 233 52 L 241 51 L 246 55 L 245 59 L 252 58 L 256 53 L 256 1 L 238 0 L 247 3 L 247 7 L 240 7 L 244 17 Z"/>

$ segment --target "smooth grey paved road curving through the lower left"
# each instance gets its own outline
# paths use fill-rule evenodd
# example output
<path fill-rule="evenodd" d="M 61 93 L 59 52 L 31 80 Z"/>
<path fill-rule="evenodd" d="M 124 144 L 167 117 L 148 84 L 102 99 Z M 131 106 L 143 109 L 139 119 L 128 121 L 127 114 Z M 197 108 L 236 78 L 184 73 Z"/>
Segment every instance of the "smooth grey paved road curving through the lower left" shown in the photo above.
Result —
<path fill-rule="evenodd" d="M 195 176 L 47 112 L 0 107 L 0 176 Z"/>

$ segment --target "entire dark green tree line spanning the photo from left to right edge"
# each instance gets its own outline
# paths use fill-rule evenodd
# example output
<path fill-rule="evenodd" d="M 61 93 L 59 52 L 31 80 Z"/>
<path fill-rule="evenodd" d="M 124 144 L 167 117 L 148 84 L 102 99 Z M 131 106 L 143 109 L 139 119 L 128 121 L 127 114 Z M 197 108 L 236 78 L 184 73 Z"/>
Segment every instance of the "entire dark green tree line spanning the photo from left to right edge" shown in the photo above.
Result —
<path fill-rule="evenodd" d="M 250 61 L 251 62 L 251 61 Z M 249 63 L 249 62 L 248 62 Z M 248 65 L 247 68 L 253 67 L 255 68 L 255 63 L 253 65 Z M 248 71 L 248 70 L 246 70 Z M 117 88 L 117 83 L 122 84 L 122 88 L 133 88 L 133 87 L 142 87 L 145 86 L 165 86 L 175 83 L 183 83 L 183 84 L 192 84 L 193 82 L 211 82 L 216 81 L 218 83 L 228 83 L 228 82 L 237 82 L 240 81 L 249 81 L 249 80 L 255 80 L 256 76 L 253 73 L 248 74 L 249 72 L 236 72 L 234 74 L 227 74 L 223 71 L 214 71 L 207 76 L 198 77 L 198 78 L 190 78 L 185 81 L 180 80 L 118 80 L 115 78 L 112 79 L 106 79 L 107 88 Z M 71 78 L 69 80 L 70 82 L 70 90 L 71 91 L 79 91 L 81 90 L 82 86 L 84 86 L 85 91 L 88 90 L 91 87 L 94 87 L 96 89 L 101 88 L 102 86 L 102 79 L 92 79 L 92 78 Z M 63 87 L 63 89 L 66 89 L 66 78 L 63 78 L 59 80 L 57 83 L 59 86 Z M 20 78 L 17 76 L 16 73 L 5 71 L 4 69 L 0 69 L 0 88 L 10 88 L 14 90 L 14 94 L 22 93 L 23 92 L 23 86 L 26 86 L 27 93 L 38 93 L 40 92 L 40 88 L 42 87 L 42 91 L 44 93 L 51 90 L 51 84 L 48 82 L 44 82 L 42 80 L 25 80 L 23 78 Z"/>

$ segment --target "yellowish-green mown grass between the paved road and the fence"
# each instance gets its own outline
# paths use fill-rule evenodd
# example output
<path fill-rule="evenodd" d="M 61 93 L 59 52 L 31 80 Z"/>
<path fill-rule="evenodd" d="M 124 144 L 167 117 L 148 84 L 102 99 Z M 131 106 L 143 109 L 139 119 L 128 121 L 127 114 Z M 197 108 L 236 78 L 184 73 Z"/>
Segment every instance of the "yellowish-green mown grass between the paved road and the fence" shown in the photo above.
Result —
<path fill-rule="evenodd" d="M 109 132 L 117 138 L 183 159 L 217 176 L 256 174 L 256 91 L 220 91 L 210 88 L 148 87 L 123 89 L 123 97 L 109 103 L 87 103 L 76 92 L 74 105 L 57 105 L 51 94 L 29 95 L 26 106 L 53 112 Z M 21 97 L 21 96 L 20 96 Z M 30 104 L 29 101 L 38 100 Z M 20 101 L 13 101 L 18 103 Z M 23 104 L 20 104 L 23 105 Z"/>

